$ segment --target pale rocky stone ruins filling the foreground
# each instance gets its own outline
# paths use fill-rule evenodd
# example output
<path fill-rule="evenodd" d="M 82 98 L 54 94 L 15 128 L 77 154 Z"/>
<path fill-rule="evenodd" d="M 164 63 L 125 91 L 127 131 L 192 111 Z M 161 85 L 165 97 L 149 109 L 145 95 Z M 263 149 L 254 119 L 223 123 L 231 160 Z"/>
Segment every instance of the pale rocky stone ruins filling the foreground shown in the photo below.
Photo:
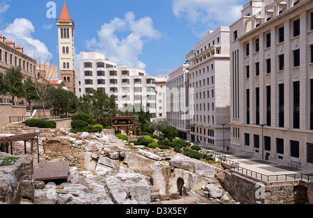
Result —
<path fill-rule="evenodd" d="M 36 204 L 149 204 L 188 202 L 193 197 L 196 200 L 190 203 L 238 203 L 216 179 L 223 172 L 220 165 L 142 147 L 127 146 L 105 133 L 41 131 L 40 162 L 69 161 L 67 182 L 45 184 L 32 179 L 33 195 L 16 199 Z"/>

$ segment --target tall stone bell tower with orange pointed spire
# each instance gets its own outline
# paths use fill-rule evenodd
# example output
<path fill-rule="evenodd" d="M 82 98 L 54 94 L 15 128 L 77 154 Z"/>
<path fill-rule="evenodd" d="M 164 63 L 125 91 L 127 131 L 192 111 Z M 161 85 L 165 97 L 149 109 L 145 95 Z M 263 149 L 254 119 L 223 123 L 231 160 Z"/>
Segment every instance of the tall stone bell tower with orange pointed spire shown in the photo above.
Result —
<path fill-rule="evenodd" d="M 75 93 L 74 22 L 64 2 L 58 26 L 58 57 L 60 77 L 68 90 Z"/>

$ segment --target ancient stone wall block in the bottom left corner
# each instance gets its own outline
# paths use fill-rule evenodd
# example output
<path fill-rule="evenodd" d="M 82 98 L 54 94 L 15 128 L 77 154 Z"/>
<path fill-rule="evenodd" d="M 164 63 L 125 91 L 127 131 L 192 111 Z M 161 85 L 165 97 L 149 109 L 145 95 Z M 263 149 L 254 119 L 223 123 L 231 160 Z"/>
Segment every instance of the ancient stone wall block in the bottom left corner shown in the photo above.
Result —
<path fill-rule="evenodd" d="M 0 156 L 9 157 L 0 153 Z M 0 202 L 19 203 L 21 198 L 33 201 L 33 157 L 20 156 L 12 166 L 0 167 Z"/>

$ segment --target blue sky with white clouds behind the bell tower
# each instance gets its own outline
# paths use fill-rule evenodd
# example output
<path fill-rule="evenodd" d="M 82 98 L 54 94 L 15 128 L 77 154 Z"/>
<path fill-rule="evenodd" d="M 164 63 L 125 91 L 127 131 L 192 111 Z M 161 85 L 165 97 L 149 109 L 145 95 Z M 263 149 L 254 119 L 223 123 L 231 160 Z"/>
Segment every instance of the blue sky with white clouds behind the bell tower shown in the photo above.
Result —
<path fill-rule="evenodd" d="M 56 20 L 45 0 L 0 0 L 0 34 L 58 65 Z M 56 3 L 56 17 L 63 0 Z M 101 51 L 118 64 L 168 74 L 182 65 L 201 35 L 240 16 L 242 0 L 67 0 L 75 50 Z M 78 58 L 78 56 L 77 56 Z"/>

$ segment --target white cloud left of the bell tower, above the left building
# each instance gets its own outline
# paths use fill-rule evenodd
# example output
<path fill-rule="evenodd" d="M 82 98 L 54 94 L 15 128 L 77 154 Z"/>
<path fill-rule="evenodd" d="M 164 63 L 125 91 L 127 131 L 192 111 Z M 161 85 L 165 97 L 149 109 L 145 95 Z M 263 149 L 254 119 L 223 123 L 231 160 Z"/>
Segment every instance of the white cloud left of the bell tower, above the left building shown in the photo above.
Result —
<path fill-rule="evenodd" d="M 52 57 L 45 43 L 33 38 L 35 33 L 33 23 L 25 18 L 16 18 L 12 24 L 0 31 L 7 40 L 14 41 L 15 45 L 22 45 L 24 53 L 33 57 Z"/>

